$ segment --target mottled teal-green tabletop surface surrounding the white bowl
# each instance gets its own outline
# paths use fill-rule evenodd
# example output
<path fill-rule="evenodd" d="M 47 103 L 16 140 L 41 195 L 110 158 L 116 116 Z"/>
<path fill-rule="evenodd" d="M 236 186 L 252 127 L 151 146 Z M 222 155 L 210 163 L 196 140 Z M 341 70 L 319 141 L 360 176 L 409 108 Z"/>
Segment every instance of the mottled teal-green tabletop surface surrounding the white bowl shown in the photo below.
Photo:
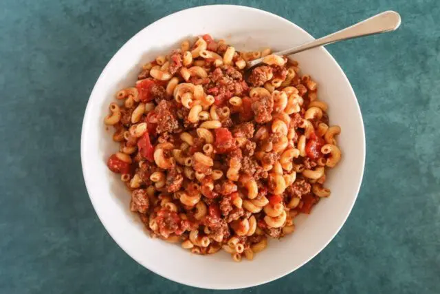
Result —
<path fill-rule="evenodd" d="M 0 1 L 0 293 L 211 293 L 131 260 L 100 224 L 80 166 L 83 113 L 104 65 L 146 25 L 206 3 Z M 402 17 L 397 32 L 328 48 L 366 129 L 364 181 L 347 223 L 295 273 L 235 293 L 440 293 L 439 1 L 228 3 L 314 36 L 383 10 Z"/>

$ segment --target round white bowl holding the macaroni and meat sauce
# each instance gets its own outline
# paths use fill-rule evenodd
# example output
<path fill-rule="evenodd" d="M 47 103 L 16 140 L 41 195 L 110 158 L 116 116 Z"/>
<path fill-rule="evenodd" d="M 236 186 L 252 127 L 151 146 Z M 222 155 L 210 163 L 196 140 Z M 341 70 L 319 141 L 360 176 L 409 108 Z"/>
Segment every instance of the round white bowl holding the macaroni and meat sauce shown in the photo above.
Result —
<path fill-rule="evenodd" d="M 115 92 L 133 85 L 143 63 L 178 48 L 189 36 L 212 34 L 238 50 L 270 47 L 284 50 L 311 41 L 294 23 L 269 12 L 243 6 L 202 6 L 164 17 L 141 30 L 113 56 L 89 98 L 81 136 L 81 161 L 87 191 L 104 227 L 115 242 L 147 269 L 170 280 L 201 288 L 245 288 L 295 271 L 329 244 L 349 216 L 358 196 L 365 161 L 364 126 L 351 85 L 324 48 L 295 55 L 303 73 L 318 82 L 318 97 L 329 104 L 331 124 L 342 127 L 338 141 L 342 161 L 328 172 L 332 191 L 309 216 L 296 219 L 294 234 L 271 240 L 252 262 L 230 255 L 192 255 L 177 244 L 149 238 L 129 210 L 130 196 L 120 177 L 106 165 L 118 149 L 102 121 Z"/>

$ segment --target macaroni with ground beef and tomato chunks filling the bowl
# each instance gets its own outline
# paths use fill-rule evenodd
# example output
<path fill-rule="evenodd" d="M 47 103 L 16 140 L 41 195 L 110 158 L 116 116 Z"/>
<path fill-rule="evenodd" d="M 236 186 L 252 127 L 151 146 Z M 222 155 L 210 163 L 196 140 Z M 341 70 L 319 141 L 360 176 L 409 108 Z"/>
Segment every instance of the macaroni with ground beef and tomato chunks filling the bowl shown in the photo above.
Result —
<path fill-rule="evenodd" d="M 206 34 L 146 63 L 116 93 L 104 124 L 120 151 L 107 166 L 153 235 L 194 254 L 253 260 L 267 237 L 294 233 L 294 218 L 331 195 L 326 171 L 342 158 L 341 129 L 329 124 L 318 83 L 271 52 L 239 52 Z M 247 61 L 260 57 L 245 81 Z"/>

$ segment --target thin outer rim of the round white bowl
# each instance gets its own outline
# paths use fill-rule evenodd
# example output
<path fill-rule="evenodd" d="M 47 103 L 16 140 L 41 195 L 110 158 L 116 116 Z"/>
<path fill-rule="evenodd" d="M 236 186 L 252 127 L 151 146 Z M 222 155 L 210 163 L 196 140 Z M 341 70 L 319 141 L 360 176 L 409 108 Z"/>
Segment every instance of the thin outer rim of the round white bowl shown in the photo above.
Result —
<path fill-rule="evenodd" d="M 129 250 L 126 249 L 124 246 L 122 246 L 122 244 L 120 242 L 118 242 L 118 238 L 116 238 L 115 235 L 113 235 L 113 233 L 111 233 L 111 231 L 109 229 L 107 229 L 107 227 L 109 227 L 109 224 L 107 223 L 106 220 L 104 220 L 100 214 L 98 213 L 97 210 L 97 206 L 98 203 L 96 201 L 94 201 L 94 198 L 91 197 L 90 191 L 91 189 L 89 188 L 91 183 L 90 183 L 90 179 L 87 179 L 86 176 L 86 169 L 87 169 L 87 165 L 85 165 L 85 134 L 87 133 L 87 131 L 85 131 L 86 129 L 86 118 L 90 115 L 90 109 L 91 109 L 91 97 L 94 96 L 95 92 L 96 92 L 96 87 L 98 85 L 98 83 L 100 83 L 101 79 L 104 76 L 104 73 L 107 72 L 107 69 L 109 67 L 109 65 L 113 62 L 113 60 L 115 59 L 115 56 L 118 55 L 118 53 L 120 53 L 122 50 L 124 50 L 124 48 L 128 47 L 130 45 L 131 42 L 133 42 L 133 40 L 140 34 L 142 34 L 142 32 L 144 32 L 145 30 L 148 30 L 150 28 L 152 28 L 153 26 L 157 25 L 159 22 L 163 21 L 164 19 L 169 19 L 172 17 L 175 17 L 176 14 L 180 14 L 182 12 L 186 12 L 188 10 L 199 10 L 199 9 L 203 9 L 203 8 L 209 8 L 209 7 L 229 7 L 232 9 L 241 9 L 241 10 L 253 10 L 254 12 L 258 12 L 261 14 L 267 14 L 270 15 L 271 17 L 275 17 L 276 19 L 278 19 L 278 21 L 283 21 L 284 23 L 288 23 L 289 25 L 294 26 L 297 30 L 302 31 L 303 33 L 307 34 L 309 37 L 311 37 L 311 39 L 315 39 L 314 36 L 311 36 L 311 34 L 309 34 L 307 31 L 305 31 L 303 28 L 300 28 L 300 26 L 296 25 L 295 23 L 293 23 L 292 21 L 289 21 L 288 19 L 285 19 L 283 17 L 278 16 L 277 14 L 274 14 L 272 12 L 267 12 L 265 10 L 261 10 L 258 8 L 252 8 L 249 6 L 239 6 L 239 5 L 231 5 L 231 4 L 214 4 L 214 5 L 205 5 L 205 6 L 195 6 L 192 8 L 186 8 L 184 10 L 179 10 L 177 12 L 173 12 L 172 14 L 168 14 L 165 17 L 162 17 L 160 19 L 157 19 L 156 21 L 154 21 L 153 23 L 151 23 L 150 25 L 147 25 L 145 28 L 142 28 L 139 32 L 137 32 L 136 34 L 134 34 L 133 36 L 131 36 L 131 38 L 126 41 L 124 43 L 124 45 L 122 45 L 119 50 L 117 52 L 115 52 L 115 54 L 113 54 L 113 56 L 111 57 L 111 59 L 108 61 L 108 63 L 105 65 L 104 69 L 102 70 L 102 72 L 100 73 L 100 75 L 98 76 L 98 79 L 96 80 L 96 83 L 94 85 L 93 90 L 91 91 L 91 94 L 89 96 L 89 99 L 87 101 L 87 106 L 85 109 L 85 113 L 83 116 L 83 124 L 81 127 L 81 138 L 80 138 L 80 160 L 81 160 L 81 167 L 83 170 L 83 178 L 85 181 L 85 186 L 87 189 L 87 194 L 89 195 L 89 199 L 91 201 L 92 206 L 94 207 L 94 211 L 96 213 L 96 215 L 98 216 L 98 219 L 100 220 L 102 226 L 104 227 L 104 229 L 107 231 L 107 233 L 109 233 L 109 235 L 111 236 L 111 238 L 113 239 L 113 241 L 118 244 L 118 246 L 120 246 L 120 248 L 127 254 L 129 255 L 131 258 L 133 258 L 133 260 L 135 260 L 138 264 L 144 266 L 144 268 L 148 269 L 148 271 L 152 271 L 153 273 L 160 275 L 162 277 L 165 277 L 168 280 L 171 280 L 173 282 L 177 282 L 179 284 L 184 284 L 187 286 L 193 286 L 195 288 L 206 288 L 206 289 L 215 289 L 215 290 L 228 290 L 228 289 L 240 289 L 240 288 L 248 288 L 248 287 L 252 287 L 252 286 L 259 286 L 259 285 L 263 285 L 263 284 L 267 284 L 269 282 L 272 282 L 274 280 L 278 280 L 281 277 L 284 277 L 285 275 L 288 275 L 289 273 L 293 273 L 294 271 L 296 271 L 297 269 L 300 269 L 300 267 L 302 267 L 304 264 L 307 264 L 307 262 L 309 262 L 310 260 L 312 260 L 313 258 L 316 257 L 316 255 L 318 255 L 320 252 L 322 252 L 322 250 L 325 249 L 325 247 L 327 247 L 327 245 L 336 237 L 336 235 L 340 232 L 340 230 L 342 229 L 342 227 L 344 226 L 345 222 L 347 222 L 347 218 L 350 216 L 351 211 L 353 210 L 354 204 L 358 198 L 359 192 L 360 192 L 360 187 L 362 185 L 362 180 L 364 178 L 364 170 L 365 170 L 365 159 L 366 159 L 366 139 L 365 139 L 365 127 L 364 127 L 364 120 L 362 118 L 362 112 L 360 111 L 360 105 L 358 103 L 358 97 L 355 95 L 355 92 L 353 90 L 353 87 L 351 86 L 351 83 L 349 81 L 349 79 L 347 78 L 347 75 L 344 73 L 344 71 L 342 70 L 342 68 L 340 67 L 339 63 L 336 61 L 336 59 L 333 58 L 333 56 L 324 48 L 324 47 L 320 47 L 320 48 L 316 48 L 316 50 L 323 50 L 323 52 L 327 55 L 328 58 L 331 59 L 331 61 L 333 61 L 333 63 L 335 63 L 336 68 L 338 69 L 338 71 L 340 72 L 340 74 L 342 74 L 342 77 L 345 79 L 345 81 L 347 81 L 348 85 L 349 85 L 349 92 L 351 92 L 351 94 L 353 95 L 353 97 L 355 98 L 355 105 L 356 105 L 356 111 L 358 114 L 358 117 L 360 118 L 360 122 L 362 123 L 362 143 L 361 143 L 361 147 L 362 147 L 362 171 L 360 174 L 360 179 L 358 182 L 358 187 L 357 187 L 357 192 L 355 193 L 355 197 L 353 198 L 353 202 L 351 204 L 351 207 L 349 208 L 349 211 L 347 213 L 346 216 L 344 216 L 344 220 L 343 222 L 341 222 L 340 226 L 338 227 L 338 229 L 336 231 L 334 231 L 333 235 L 331 236 L 331 238 L 329 238 L 329 240 L 327 240 L 327 242 L 324 242 L 322 244 L 322 246 L 320 246 L 320 248 L 316 251 L 316 253 L 314 253 L 314 255 L 311 255 L 309 258 L 307 258 L 302 264 L 289 269 L 287 271 L 282 271 L 280 273 L 277 273 L 271 277 L 261 277 L 261 279 L 259 281 L 256 281 L 255 283 L 252 284 L 247 284 L 247 285 L 242 285 L 242 286 L 228 286 L 228 284 L 224 284 L 224 286 L 222 287 L 218 287 L 218 286 L 210 286 L 208 284 L 203 284 L 203 282 L 199 283 L 199 284 L 195 284 L 193 282 L 188 282 L 186 280 L 181 279 L 180 277 L 172 277 L 170 275 L 168 275 L 167 272 L 161 271 L 159 269 L 156 269 L 154 265 L 152 264 L 145 264 L 144 262 L 142 262 L 141 260 L 137 260 L 136 258 L 133 257 L 133 255 L 131 253 L 129 253 Z"/>

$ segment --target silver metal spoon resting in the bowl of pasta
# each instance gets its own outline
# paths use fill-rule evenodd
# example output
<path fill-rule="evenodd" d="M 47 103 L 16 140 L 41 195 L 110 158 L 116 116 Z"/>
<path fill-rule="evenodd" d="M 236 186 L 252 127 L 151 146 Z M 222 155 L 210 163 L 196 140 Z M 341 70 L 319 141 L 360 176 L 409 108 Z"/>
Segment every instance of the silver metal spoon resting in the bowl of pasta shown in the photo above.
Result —
<path fill-rule="evenodd" d="M 295 46 L 294 48 L 287 49 L 281 52 L 274 53 L 275 55 L 288 56 L 298 52 L 303 52 L 311 48 L 316 48 L 318 46 L 323 46 L 331 43 L 336 43 L 338 41 L 344 41 L 349 39 L 358 38 L 360 36 L 369 36 L 371 34 L 380 34 L 382 32 L 392 32 L 399 28 L 400 25 L 400 15 L 395 11 L 386 11 L 380 14 L 376 14 L 374 17 L 360 21 L 355 25 L 351 25 L 344 30 L 338 32 L 333 32 L 327 36 L 323 36 L 320 39 L 304 43 L 302 45 Z M 253 61 L 248 61 L 248 69 L 259 65 L 263 62 L 263 57 L 260 59 L 255 59 Z"/>

